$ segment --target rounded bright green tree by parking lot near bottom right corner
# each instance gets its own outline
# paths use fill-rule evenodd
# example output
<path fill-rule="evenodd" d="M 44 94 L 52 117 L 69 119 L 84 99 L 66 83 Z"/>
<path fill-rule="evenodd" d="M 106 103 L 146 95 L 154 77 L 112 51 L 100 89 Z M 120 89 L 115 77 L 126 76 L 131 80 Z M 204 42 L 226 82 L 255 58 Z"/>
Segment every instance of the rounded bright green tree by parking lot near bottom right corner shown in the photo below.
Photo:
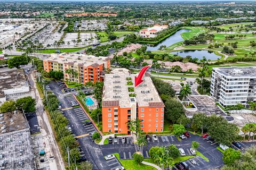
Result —
<path fill-rule="evenodd" d="M 241 152 L 239 150 L 235 150 L 233 148 L 228 148 L 223 153 L 223 162 L 224 164 L 230 166 L 234 164 L 235 160 L 241 157 Z"/>

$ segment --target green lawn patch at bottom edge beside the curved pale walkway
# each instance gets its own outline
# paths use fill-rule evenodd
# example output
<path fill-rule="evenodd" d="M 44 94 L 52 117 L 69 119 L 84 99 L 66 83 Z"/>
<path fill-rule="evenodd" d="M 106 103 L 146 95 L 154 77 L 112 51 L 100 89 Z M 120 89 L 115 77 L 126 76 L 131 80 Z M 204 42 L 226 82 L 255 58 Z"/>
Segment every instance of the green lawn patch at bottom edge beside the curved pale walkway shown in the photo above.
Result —
<path fill-rule="evenodd" d="M 144 164 L 137 164 L 133 159 L 131 160 L 120 160 L 119 158 L 119 154 L 115 153 L 113 154 L 116 156 L 116 158 L 119 160 L 119 162 L 122 164 L 122 166 L 126 169 L 126 170 L 154 170 L 156 168 L 152 167 L 152 166 L 148 166 L 148 165 L 144 165 Z M 149 162 L 149 163 L 153 163 L 153 160 L 151 158 L 149 159 L 144 159 L 145 162 Z"/>

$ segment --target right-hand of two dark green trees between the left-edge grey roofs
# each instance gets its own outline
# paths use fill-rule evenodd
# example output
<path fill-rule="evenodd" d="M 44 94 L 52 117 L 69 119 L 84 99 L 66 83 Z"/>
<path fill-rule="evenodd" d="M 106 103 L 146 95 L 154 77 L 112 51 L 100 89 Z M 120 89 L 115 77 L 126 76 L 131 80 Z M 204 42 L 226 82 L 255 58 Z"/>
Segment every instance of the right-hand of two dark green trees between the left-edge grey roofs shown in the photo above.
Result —
<path fill-rule="evenodd" d="M 36 111 L 36 99 L 31 96 L 17 99 L 16 106 L 17 108 L 22 108 L 25 113 L 34 112 Z"/>

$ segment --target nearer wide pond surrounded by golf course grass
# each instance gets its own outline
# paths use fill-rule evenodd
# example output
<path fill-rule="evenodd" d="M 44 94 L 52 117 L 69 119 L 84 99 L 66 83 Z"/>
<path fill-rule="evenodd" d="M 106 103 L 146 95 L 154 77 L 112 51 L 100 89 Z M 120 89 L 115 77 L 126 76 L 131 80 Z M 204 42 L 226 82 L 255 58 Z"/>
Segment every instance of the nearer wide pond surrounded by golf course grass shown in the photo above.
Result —
<path fill-rule="evenodd" d="M 218 60 L 218 58 L 221 58 L 221 56 L 208 50 L 181 50 L 178 52 L 171 52 L 170 54 L 177 54 L 181 57 L 186 57 L 189 55 L 192 58 L 198 58 L 199 60 L 201 60 L 203 56 L 205 56 L 207 60 Z"/>

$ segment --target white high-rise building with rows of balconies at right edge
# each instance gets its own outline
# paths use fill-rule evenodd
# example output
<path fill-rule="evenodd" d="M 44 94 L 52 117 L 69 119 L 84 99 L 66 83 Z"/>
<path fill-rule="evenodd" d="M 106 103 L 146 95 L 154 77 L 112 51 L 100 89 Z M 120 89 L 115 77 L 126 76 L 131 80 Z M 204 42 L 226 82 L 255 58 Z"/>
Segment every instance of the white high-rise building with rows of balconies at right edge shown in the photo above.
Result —
<path fill-rule="evenodd" d="M 256 101 L 256 66 L 213 67 L 211 96 L 222 106 Z"/>

